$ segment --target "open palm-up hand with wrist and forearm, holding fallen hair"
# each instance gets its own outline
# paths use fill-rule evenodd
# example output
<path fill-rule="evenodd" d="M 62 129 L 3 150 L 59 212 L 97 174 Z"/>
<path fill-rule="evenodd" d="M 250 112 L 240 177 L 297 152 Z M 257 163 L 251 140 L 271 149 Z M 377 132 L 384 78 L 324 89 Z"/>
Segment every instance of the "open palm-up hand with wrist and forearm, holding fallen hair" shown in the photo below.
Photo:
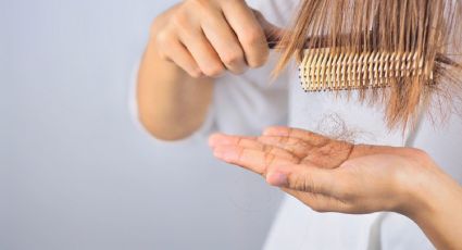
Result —
<path fill-rule="evenodd" d="M 211 136 L 214 155 L 264 176 L 319 212 L 394 211 L 437 248 L 462 249 L 462 188 L 422 150 L 353 145 L 272 127 L 260 137 Z"/>

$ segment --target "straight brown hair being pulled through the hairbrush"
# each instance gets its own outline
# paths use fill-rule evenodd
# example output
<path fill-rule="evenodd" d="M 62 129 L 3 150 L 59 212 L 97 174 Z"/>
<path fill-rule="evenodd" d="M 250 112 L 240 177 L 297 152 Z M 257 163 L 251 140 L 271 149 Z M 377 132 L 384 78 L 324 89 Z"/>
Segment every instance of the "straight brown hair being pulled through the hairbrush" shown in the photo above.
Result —
<path fill-rule="evenodd" d="M 294 57 L 300 62 L 304 49 L 414 52 L 422 60 L 422 74 L 391 77 L 385 89 L 360 89 L 360 100 L 383 104 L 388 126 L 405 128 L 423 105 L 457 98 L 462 86 L 461 0 L 302 0 L 300 4 L 292 29 L 280 41 L 276 75 Z M 435 102 L 436 97 L 442 99 Z"/>

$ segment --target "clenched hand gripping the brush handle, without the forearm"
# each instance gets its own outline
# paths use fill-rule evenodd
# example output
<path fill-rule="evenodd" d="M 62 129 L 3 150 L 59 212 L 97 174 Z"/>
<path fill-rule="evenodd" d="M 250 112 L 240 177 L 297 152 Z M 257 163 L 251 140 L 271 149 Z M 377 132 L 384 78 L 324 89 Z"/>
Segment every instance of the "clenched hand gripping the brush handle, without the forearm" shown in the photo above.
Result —
<path fill-rule="evenodd" d="M 245 0 L 186 0 L 152 25 L 153 47 L 192 77 L 241 74 L 262 66 L 277 28 Z"/>

